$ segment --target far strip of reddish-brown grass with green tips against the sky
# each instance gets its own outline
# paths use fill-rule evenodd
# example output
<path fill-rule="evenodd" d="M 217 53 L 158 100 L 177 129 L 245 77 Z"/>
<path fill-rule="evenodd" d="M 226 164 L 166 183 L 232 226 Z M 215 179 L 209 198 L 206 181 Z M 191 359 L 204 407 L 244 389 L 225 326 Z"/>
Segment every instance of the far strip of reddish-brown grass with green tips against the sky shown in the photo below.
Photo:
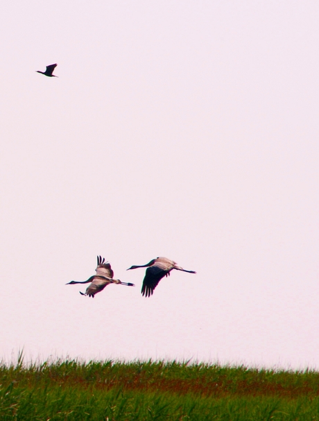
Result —
<path fill-rule="evenodd" d="M 6 388 L 41 386 L 89 390 L 122 390 L 200 395 L 202 397 L 317 397 L 319 372 L 264 370 L 176 361 L 58 360 L 40 365 L 0 366 L 0 384 Z"/>

